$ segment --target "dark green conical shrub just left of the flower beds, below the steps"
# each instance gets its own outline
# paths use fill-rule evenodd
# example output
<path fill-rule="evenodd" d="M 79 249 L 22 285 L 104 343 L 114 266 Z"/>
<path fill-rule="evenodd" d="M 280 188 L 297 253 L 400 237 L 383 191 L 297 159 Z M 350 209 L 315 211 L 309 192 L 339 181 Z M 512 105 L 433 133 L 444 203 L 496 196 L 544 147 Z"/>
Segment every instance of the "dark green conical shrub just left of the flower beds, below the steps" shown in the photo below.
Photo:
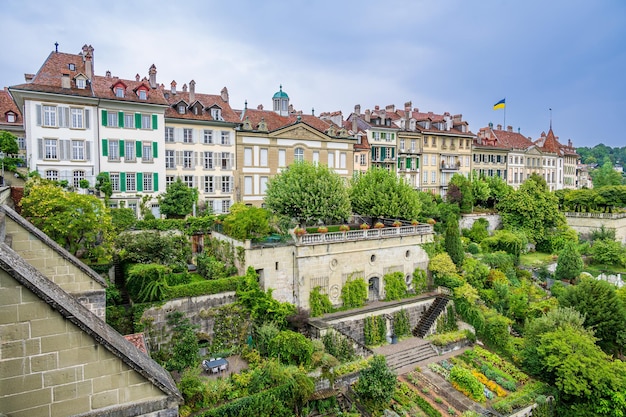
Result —
<path fill-rule="evenodd" d="M 389 404 L 397 383 L 396 374 L 389 369 L 382 355 L 375 355 L 367 368 L 361 371 L 355 392 L 375 409 Z"/>

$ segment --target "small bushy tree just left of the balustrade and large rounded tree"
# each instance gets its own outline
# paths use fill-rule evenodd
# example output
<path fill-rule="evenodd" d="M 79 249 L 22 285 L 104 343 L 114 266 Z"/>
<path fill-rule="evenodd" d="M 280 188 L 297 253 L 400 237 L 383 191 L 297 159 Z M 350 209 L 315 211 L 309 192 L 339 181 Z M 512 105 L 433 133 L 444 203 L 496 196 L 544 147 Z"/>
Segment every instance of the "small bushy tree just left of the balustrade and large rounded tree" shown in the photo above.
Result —
<path fill-rule="evenodd" d="M 264 237 L 270 231 L 267 210 L 243 203 L 236 203 L 230 208 L 223 224 L 224 233 L 239 240 Z"/>

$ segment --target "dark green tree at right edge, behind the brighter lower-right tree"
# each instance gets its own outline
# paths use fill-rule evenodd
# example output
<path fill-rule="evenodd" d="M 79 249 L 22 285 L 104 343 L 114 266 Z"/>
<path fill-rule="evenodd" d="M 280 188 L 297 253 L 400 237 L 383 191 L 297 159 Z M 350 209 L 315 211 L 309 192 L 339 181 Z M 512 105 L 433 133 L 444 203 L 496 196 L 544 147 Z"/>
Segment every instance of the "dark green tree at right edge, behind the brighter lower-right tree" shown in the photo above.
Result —
<path fill-rule="evenodd" d="M 607 353 L 626 347 L 626 306 L 615 286 L 606 281 L 584 278 L 559 296 L 564 307 L 573 307 L 585 316 L 585 326 L 595 330 L 598 344 Z"/>

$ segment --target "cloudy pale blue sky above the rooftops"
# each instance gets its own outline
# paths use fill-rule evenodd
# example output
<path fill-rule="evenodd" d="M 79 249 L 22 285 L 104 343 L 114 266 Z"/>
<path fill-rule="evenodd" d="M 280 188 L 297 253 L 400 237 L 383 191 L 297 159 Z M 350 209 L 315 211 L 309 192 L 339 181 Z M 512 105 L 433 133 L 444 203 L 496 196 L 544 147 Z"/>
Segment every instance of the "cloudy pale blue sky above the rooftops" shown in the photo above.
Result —
<path fill-rule="evenodd" d="M 536 139 L 626 146 L 622 0 L 5 1 L 0 82 L 20 84 L 59 43 L 95 48 L 97 74 L 262 104 L 282 84 L 319 115 L 411 101 Z M 506 110 L 493 105 L 506 98 Z M 552 109 L 550 111 L 549 109 Z M 505 121 L 506 117 L 506 121 Z"/>

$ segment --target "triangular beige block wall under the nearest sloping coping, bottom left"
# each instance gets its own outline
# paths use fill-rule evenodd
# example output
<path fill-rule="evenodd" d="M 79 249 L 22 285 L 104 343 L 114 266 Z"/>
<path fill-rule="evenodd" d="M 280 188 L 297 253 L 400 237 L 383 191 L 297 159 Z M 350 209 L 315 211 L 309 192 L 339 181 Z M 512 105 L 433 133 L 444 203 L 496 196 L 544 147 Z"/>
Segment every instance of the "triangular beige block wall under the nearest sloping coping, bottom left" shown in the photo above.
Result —
<path fill-rule="evenodd" d="M 0 270 L 0 413 L 174 417 L 176 410 L 152 382 Z"/>

